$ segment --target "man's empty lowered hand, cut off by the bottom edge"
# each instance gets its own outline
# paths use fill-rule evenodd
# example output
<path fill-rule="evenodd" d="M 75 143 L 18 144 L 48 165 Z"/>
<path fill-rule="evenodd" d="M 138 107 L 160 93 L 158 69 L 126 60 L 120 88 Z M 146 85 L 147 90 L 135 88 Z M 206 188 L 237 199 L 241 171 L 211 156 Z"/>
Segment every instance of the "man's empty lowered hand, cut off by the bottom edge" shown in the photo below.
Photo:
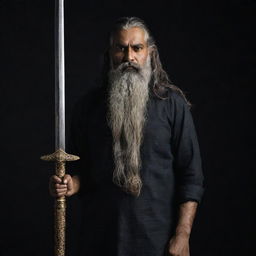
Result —
<path fill-rule="evenodd" d="M 189 236 L 185 234 L 174 235 L 169 242 L 170 256 L 189 256 Z"/>

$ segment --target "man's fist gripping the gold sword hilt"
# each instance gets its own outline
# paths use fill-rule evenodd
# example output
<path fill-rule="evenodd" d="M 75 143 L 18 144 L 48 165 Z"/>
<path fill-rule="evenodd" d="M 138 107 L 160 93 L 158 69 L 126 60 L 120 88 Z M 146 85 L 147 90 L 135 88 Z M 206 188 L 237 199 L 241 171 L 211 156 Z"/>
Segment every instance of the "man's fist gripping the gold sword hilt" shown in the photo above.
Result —
<path fill-rule="evenodd" d="M 77 176 L 74 176 L 77 177 Z M 69 174 L 66 174 L 62 179 L 56 175 L 51 176 L 49 182 L 50 194 L 54 197 L 72 196 L 77 192 L 77 179 L 73 180 Z"/>

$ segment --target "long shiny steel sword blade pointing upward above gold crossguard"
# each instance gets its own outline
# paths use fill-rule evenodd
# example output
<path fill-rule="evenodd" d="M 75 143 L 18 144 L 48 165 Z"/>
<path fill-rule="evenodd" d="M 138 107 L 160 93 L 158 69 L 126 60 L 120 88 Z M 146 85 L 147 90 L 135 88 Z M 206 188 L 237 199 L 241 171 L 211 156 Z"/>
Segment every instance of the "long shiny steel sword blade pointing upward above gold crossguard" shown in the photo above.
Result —
<path fill-rule="evenodd" d="M 65 151 L 64 0 L 55 0 L 55 149 Z"/>

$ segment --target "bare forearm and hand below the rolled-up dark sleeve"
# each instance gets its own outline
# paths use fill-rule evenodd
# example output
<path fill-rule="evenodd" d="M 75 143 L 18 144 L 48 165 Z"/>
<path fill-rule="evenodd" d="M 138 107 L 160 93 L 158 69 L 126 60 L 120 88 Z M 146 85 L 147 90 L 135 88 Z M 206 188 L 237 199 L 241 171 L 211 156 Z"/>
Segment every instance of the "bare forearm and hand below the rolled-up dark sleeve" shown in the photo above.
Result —
<path fill-rule="evenodd" d="M 171 256 L 189 256 L 189 237 L 196 215 L 197 202 L 187 201 L 179 207 L 179 219 L 174 236 L 169 242 Z"/>

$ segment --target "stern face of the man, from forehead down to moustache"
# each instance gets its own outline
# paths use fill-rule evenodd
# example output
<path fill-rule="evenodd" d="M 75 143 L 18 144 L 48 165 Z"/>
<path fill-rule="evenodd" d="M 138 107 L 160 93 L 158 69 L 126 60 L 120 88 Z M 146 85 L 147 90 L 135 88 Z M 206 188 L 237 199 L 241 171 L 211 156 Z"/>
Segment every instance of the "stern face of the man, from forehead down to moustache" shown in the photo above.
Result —
<path fill-rule="evenodd" d="M 149 48 L 145 41 L 145 32 L 141 28 L 122 29 L 114 35 L 113 45 L 110 49 L 110 57 L 114 68 L 125 62 L 143 67 L 148 54 Z"/>

